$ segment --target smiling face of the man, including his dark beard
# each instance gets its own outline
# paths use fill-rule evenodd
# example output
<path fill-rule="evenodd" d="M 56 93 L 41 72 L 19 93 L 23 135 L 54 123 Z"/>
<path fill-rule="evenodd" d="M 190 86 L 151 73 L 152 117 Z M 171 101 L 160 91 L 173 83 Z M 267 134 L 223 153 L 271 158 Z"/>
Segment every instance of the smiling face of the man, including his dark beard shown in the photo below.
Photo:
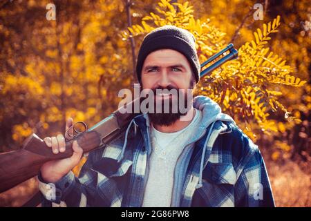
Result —
<path fill-rule="evenodd" d="M 194 88 L 195 81 L 191 73 L 189 61 L 182 53 L 171 50 L 161 49 L 151 52 L 142 66 L 142 89 L 151 89 L 155 96 L 156 103 L 164 105 L 164 100 L 169 99 L 170 113 L 149 113 L 151 122 L 158 125 L 169 126 L 176 122 L 184 113 L 172 113 L 172 106 L 178 105 L 179 96 L 156 93 L 156 89 L 184 89 L 185 105 L 187 106 L 187 89 Z M 174 102 L 175 101 L 175 102 Z M 164 110 L 164 107 L 162 107 Z"/>

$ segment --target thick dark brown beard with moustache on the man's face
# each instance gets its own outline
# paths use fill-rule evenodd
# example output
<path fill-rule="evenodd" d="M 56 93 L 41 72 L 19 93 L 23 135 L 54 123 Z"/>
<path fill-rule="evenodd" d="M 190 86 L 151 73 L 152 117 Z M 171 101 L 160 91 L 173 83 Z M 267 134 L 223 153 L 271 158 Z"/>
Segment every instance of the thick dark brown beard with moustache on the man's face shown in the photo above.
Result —
<path fill-rule="evenodd" d="M 156 88 L 156 89 L 164 89 L 164 88 Z M 156 89 L 153 89 L 153 94 L 156 95 Z M 173 89 L 172 87 L 167 87 L 166 89 L 171 90 Z M 175 88 L 176 89 L 176 88 Z M 187 91 L 187 90 L 186 90 Z M 173 105 L 179 105 L 179 93 L 177 97 L 177 104 L 173 104 L 172 98 L 169 99 L 169 113 L 148 113 L 150 122 L 152 124 L 156 124 L 159 126 L 171 126 L 173 123 L 175 123 L 178 119 L 180 119 L 181 116 L 187 115 L 186 113 L 180 113 L 180 109 L 177 108 L 177 113 L 172 113 L 173 111 Z M 185 99 L 185 106 L 188 106 L 188 96 L 187 93 L 184 95 Z M 156 99 L 154 102 L 154 106 L 156 107 Z M 164 110 L 164 102 L 162 100 L 162 111 Z"/>

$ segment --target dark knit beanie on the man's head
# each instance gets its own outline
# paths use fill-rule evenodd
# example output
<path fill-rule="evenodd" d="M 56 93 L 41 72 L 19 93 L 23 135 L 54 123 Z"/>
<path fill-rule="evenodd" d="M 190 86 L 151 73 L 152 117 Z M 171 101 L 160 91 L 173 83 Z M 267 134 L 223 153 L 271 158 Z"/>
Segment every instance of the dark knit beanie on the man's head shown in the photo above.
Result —
<path fill-rule="evenodd" d="M 173 49 L 182 53 L 187 57 L 196 78 L 196 82 L 200 79 L 200 61 L 196 53 L 196 39 L 188 30 L 178 28 L 176 26 L 162 26 L 152 30 L 146 35 L 138 52 L 138 60 L 136 64 L 136 73 L 138 81 L 141 83 L 142 65 L 144 59 L 153 51 L 159 49 Z"/>

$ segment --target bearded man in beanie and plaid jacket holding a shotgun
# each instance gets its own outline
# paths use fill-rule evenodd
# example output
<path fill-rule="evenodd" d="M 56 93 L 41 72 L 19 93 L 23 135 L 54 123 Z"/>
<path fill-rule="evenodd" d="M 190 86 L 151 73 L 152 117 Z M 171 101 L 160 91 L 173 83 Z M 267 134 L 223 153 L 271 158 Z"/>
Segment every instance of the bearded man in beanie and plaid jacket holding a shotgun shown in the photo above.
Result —
<path fill-rule="evenodd" d="M 44 164 L 44 206 L 274 206 L 258 146 L 209 97 L 189 99 L 200 78 L 194 35 L 175 26 L 151 31 L 136 73 L 162 112 L 137 115 L 119 139 L 88 153 L 79 177 L 71 171 L 83 154 L 77 142 L 71 157 Z M 173 111 L 180 103 L 186 112 Z M 55 154 L 65 151 L 63 135 L 44 141 Z"/>

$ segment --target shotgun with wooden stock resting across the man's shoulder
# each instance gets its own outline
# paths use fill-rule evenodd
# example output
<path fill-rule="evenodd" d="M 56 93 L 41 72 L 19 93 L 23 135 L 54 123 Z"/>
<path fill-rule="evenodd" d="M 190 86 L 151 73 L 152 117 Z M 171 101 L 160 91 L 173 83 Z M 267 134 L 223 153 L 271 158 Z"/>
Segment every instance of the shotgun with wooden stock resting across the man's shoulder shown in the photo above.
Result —
<path fill-rule="evenodd" d="M 203 68 L 214 61 L 209 67 L 202 70 L 200 77 L 209 75 L 213 70 L 236 57 L 238 57 L 238 51 L 233 44 L 229 44 L 201 64 L 201 68 Z M 131 103 L 133 104 L 133 102 L 137 102 L 137 99 L 134 99 Z M 126 105 L 131 105 L 131 103 Z M 87 153 L 95 148 L 103 148 L 120 137 L 131 119 L 138 115 L 138 113 L 125 113 L 126 111 L 122 110 L 122 108 L 125 107 L 117 109 L 95 126 L 89 129 L 86 128 L 83 133 L 77 133 L 72 139 L 66 140 L 66 151 L 64 153 L 53 154 L 44 140 L 41 140 L 35 133 L 23 142 L 22 148 L 18 151 L 0 153 L 0 193 L 37 175 L 40 167 L 45 162 L 64 159 L 73 155 L 71 146 L 74 140 L 77 140 L 84 153 Z"/>

